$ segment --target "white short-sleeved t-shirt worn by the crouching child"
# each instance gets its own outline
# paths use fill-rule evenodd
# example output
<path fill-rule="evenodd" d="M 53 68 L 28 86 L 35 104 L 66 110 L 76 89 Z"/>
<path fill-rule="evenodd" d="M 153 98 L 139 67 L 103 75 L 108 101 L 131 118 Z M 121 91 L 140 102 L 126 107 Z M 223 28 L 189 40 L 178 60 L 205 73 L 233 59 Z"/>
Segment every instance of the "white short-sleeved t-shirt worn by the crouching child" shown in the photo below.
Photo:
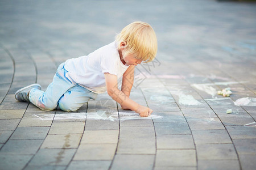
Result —
<path fill-rule="evenodd" d="M 71 82 L 96 94 L 106 91 L 104 73 L 117 75 L 119 79 L 128 67 L 123 65 L 115 41 L 102 46 L 88 56 L 68 59 L 64 66 L 68 71 L 66 76 Z"/>

